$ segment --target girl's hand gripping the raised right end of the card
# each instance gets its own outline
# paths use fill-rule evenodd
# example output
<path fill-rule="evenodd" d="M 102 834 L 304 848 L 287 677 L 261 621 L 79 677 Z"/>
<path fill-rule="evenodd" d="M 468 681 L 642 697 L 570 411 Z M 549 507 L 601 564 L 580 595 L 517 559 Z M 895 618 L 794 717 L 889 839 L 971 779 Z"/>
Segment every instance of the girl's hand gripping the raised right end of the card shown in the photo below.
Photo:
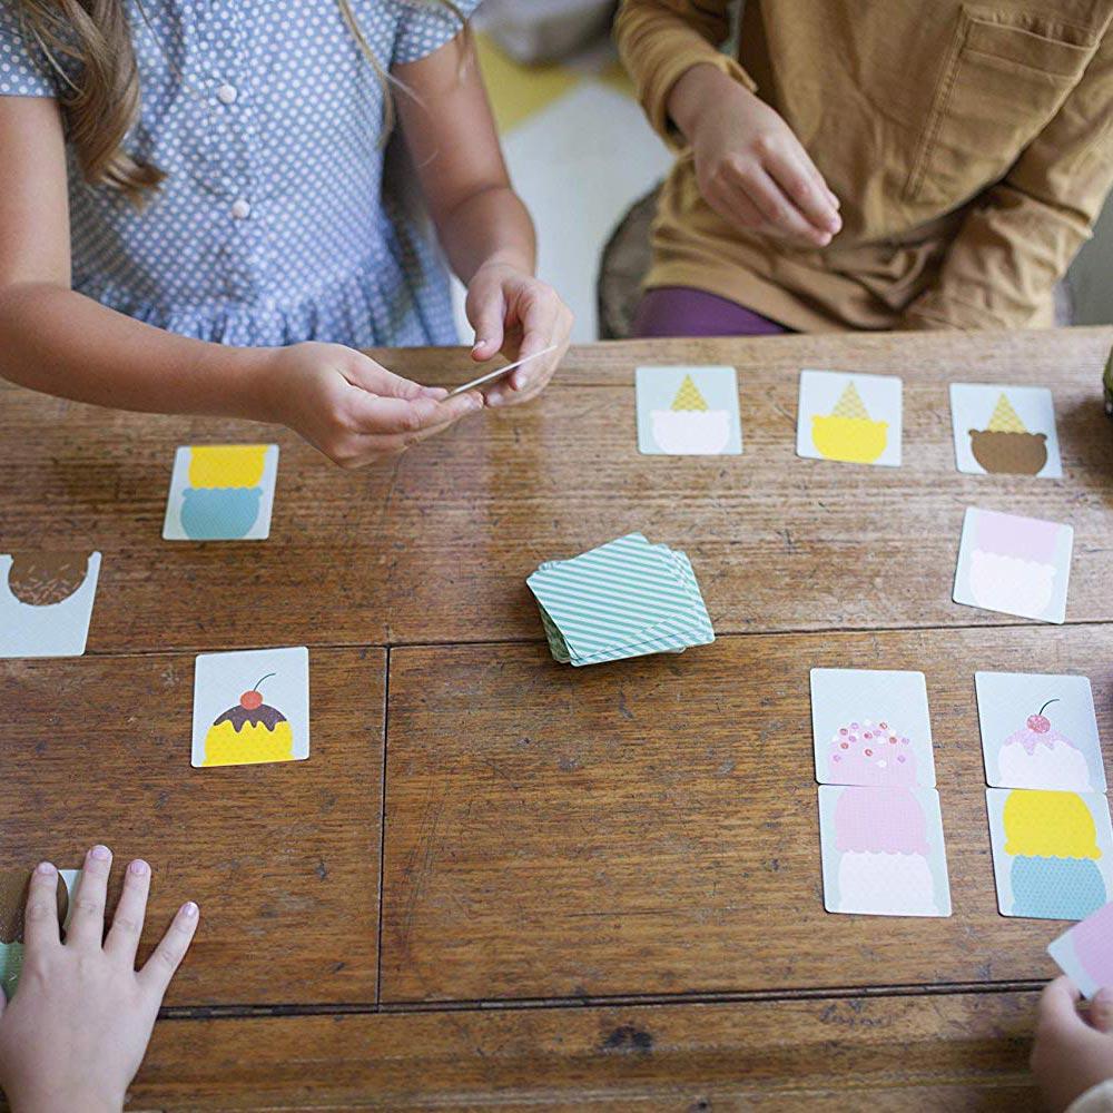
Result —
<path fill-rule="evenodd" d="M 540 394 L 564 358 L 572 332 L 572 311 L 556 290 L 508 264 L 486 263 L 467 287 L 466 309 L 475 329 L 472 358 L 477 363 L 500 351 L 514 363 L 554 347 L 495 383 L 486 404 L 513 405 Z"/>

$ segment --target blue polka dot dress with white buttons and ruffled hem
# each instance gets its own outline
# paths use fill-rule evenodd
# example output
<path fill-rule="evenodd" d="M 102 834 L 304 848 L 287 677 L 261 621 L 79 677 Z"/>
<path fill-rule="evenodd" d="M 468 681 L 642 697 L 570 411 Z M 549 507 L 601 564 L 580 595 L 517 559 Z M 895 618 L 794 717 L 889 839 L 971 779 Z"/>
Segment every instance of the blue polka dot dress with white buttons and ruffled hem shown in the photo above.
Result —
<path fill-rule="evenodd" d="M 224 344 L 455 343 L 440 252 L 398 176 L 384 183 L 382 82 L 336 0 L 129 7 L 142 109 L 125 146 L 168 177 L 136 209 L 70 157 L 75 289 Z M 383 69 L 461 30 L 421 0 L 352 9 Z M 61 81 L 0 0 L 0 95 L 55 97 Z"/>

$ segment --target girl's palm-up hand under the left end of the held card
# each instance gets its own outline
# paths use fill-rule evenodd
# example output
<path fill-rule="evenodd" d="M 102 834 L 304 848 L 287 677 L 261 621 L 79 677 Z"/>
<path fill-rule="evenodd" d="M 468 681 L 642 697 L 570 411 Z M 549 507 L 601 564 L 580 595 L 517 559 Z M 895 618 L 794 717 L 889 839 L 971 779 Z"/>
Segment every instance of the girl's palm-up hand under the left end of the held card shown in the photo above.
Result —
<path fill-rule="evenodd" d="M 341 344 L 295 344 L 269 356 L 264 381 L 273 416 L 342 467 L 396 456 L 483 408 L 469 391 L 420 386 Z"/>

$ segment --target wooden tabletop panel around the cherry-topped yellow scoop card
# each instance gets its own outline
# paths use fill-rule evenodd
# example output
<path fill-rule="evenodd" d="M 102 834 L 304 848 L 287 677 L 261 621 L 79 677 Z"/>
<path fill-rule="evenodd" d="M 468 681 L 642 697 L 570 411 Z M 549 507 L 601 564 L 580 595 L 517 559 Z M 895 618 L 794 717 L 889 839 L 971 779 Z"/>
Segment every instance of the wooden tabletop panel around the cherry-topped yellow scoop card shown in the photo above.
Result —
<path fill-rule="evenodd" d="M 309 759 L 217 769 L 189 765 L 191 657 L 0 661 L 0 861 L 147 858 L 140 957 L 201 908 L 168 1004 L 374 1002 L 385 656 L 312 651 Z"/>

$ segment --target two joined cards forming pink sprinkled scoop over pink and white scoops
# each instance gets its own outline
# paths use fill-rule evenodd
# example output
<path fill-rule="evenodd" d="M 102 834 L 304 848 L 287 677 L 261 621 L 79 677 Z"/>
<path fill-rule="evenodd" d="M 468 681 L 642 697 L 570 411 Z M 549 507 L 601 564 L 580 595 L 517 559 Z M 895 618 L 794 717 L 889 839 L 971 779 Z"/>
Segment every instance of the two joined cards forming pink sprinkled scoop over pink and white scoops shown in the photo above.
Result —
<path fill-rule="evenodd" d="M 949 916 L 922 672 L 811 670 L 824 907 Z"/>

